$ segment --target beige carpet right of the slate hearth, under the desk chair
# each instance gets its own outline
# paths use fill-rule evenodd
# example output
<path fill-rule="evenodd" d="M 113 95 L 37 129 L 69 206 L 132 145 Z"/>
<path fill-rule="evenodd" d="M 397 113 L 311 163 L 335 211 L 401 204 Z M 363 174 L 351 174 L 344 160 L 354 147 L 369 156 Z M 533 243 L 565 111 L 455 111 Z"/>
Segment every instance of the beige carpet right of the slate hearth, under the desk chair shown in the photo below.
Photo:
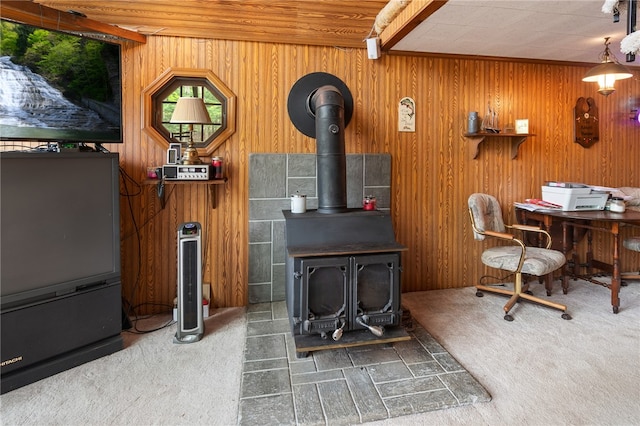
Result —
<path fill-rule="evenodd" d="M 533 285 L 544 296 L 542 285 Z M 640 282 L 620 292 L 571 281 L 563 295 L 573 319 L 531 303 L 502 319 L 504 297 L 475 288 L 403 295 L 414 317 L 487 389 L 492 401 L 407 416 L 385 425 L 639 425 Z"/>

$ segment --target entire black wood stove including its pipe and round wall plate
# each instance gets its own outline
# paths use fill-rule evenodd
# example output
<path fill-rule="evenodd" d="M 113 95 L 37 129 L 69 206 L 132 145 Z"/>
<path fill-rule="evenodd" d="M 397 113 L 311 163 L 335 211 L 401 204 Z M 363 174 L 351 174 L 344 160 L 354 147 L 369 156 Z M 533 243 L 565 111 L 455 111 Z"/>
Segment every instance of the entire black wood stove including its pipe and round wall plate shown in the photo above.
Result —
<path fill-rule="evenodd" d="M 294 84 L 287 108 L 296 128 L 316 138 L 318 174 L 318 209 L 283 211 L 285 289 L 296 353 L 408 340 L 401 327 L 385 330 L 401 322 L 405 247 L 396 242 L 388 213 L 347 208 L 349 89 L 331 74 L 312 73 Z"/>

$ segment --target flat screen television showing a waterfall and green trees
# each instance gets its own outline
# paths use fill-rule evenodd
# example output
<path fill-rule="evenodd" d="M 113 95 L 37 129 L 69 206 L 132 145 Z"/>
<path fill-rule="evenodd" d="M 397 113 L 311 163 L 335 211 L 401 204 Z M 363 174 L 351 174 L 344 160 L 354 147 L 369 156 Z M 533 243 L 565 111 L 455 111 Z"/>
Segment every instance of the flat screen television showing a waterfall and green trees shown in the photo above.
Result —
<path fill-rule="evenodd" d="M 122 143 L 120 45 L 0 21 L 0 140 Z"/>

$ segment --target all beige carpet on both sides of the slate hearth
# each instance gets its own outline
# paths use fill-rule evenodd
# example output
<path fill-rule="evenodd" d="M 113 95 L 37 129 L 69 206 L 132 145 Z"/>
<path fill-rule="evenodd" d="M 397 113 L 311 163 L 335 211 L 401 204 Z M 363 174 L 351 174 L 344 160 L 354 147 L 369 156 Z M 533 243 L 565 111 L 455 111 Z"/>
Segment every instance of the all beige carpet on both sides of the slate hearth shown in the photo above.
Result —
<path fill-rule="evenodd" d="M 533 291 L 544 294 L 542 286 Z M 572 282 L 563 295 L 556 283 L 553 298 L 569 306 L 571 321 L 521 303 L 507 322 L 504 298 L 474 293 L 408 293 L 403 304 L 492 400 L 373 424 L 640 424 L 640 283 L 622 288 L 617 315 L 609 290 Z M 2 395 L 1 422 L 234 425 L 245 310 L 215 311 L 205 325 L 203 340 L 189 345 L 172 343 L 175 326 L 125 333 L 123 351 Z"/>

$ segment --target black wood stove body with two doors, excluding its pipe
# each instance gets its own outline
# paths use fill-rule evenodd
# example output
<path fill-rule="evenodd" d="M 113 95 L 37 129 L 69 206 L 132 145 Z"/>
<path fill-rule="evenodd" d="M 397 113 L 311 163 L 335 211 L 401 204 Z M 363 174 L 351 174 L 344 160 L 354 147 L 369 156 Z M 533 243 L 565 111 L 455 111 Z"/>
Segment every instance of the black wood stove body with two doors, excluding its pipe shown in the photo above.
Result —
<path fill-rule="evenodd" d="M 284 211 L 286 300 L 299 355 L 404 340 L 401 252 L 381 211 Z M 349 333 L 348 332 L 357 332 Z"/>

